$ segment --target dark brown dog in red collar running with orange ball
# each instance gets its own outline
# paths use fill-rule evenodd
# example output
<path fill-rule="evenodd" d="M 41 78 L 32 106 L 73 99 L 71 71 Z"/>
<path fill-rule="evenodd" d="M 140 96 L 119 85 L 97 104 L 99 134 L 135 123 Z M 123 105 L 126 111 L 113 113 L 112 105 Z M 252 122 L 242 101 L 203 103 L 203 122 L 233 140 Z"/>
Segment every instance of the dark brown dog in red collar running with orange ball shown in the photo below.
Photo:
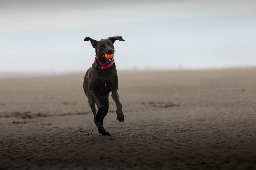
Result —
<path fill-rule="evenodd" d="M 94 123 L 102 135 L 110 135 L 103 127 L 103 119 L 108 113 L 108 96 L 116 103 L 116 114 L 119 122 L 124 122 L 122 104 L 118 95 L 118 77 L 116 65 L 114 63 L 114 42 L 116 40 L 124 41 L 121 36 L 109 37 L 100 41 L 86 37 L 84 41 L 91 41 L 95 48 L 96 57 L 92 67 L 90 67 L 84 76 L 84 93 L 87 96 L 89 106 L 94 115 Z M 95 104 L 98 108 L 96 113 Z"/>

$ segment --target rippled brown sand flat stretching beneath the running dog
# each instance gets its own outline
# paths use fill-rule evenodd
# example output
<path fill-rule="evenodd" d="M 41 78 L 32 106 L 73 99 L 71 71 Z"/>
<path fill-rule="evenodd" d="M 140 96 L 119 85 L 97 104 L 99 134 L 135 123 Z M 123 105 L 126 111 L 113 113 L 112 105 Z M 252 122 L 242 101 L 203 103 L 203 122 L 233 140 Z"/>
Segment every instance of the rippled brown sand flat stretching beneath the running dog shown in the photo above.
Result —
<path fill-rule="evenodd" d="M 0 79 L 0 169 L 255 169 L 256 68 L 118 72 L 98 133 L 84 73 Z"/>

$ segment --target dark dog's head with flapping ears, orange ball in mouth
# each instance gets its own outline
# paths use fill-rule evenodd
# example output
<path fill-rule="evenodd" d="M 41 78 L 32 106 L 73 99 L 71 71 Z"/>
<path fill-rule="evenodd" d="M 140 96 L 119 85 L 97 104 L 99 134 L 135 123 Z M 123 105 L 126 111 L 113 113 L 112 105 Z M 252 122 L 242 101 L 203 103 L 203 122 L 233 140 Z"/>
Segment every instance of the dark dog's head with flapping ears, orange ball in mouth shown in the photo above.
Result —
<path fill-rule="evenodd" d="M 107 39 L 101 39 L 100 41 L 93 40 L 90 37 L 86 37 L 84 41 L 91 41 L 92 47 L 95 48 L 96 56 L 104 58 L 109 61 L 114 60 L 114 42 L 116 40 L 124 41 L 124 39 L 120 37 L 109 37 Z"/>

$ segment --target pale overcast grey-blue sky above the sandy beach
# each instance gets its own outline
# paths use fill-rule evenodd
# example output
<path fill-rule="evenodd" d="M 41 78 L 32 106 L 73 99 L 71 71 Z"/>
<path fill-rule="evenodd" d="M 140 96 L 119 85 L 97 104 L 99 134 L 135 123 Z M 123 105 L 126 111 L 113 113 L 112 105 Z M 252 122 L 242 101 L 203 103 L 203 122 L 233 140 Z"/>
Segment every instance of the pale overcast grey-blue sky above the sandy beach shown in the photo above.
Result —
<path fill-rule="evenodd" d="M 256 66 L 256 1 L 3 1 L 0 73 L 85 72 L 95 40 L 118 70 Z"/>

